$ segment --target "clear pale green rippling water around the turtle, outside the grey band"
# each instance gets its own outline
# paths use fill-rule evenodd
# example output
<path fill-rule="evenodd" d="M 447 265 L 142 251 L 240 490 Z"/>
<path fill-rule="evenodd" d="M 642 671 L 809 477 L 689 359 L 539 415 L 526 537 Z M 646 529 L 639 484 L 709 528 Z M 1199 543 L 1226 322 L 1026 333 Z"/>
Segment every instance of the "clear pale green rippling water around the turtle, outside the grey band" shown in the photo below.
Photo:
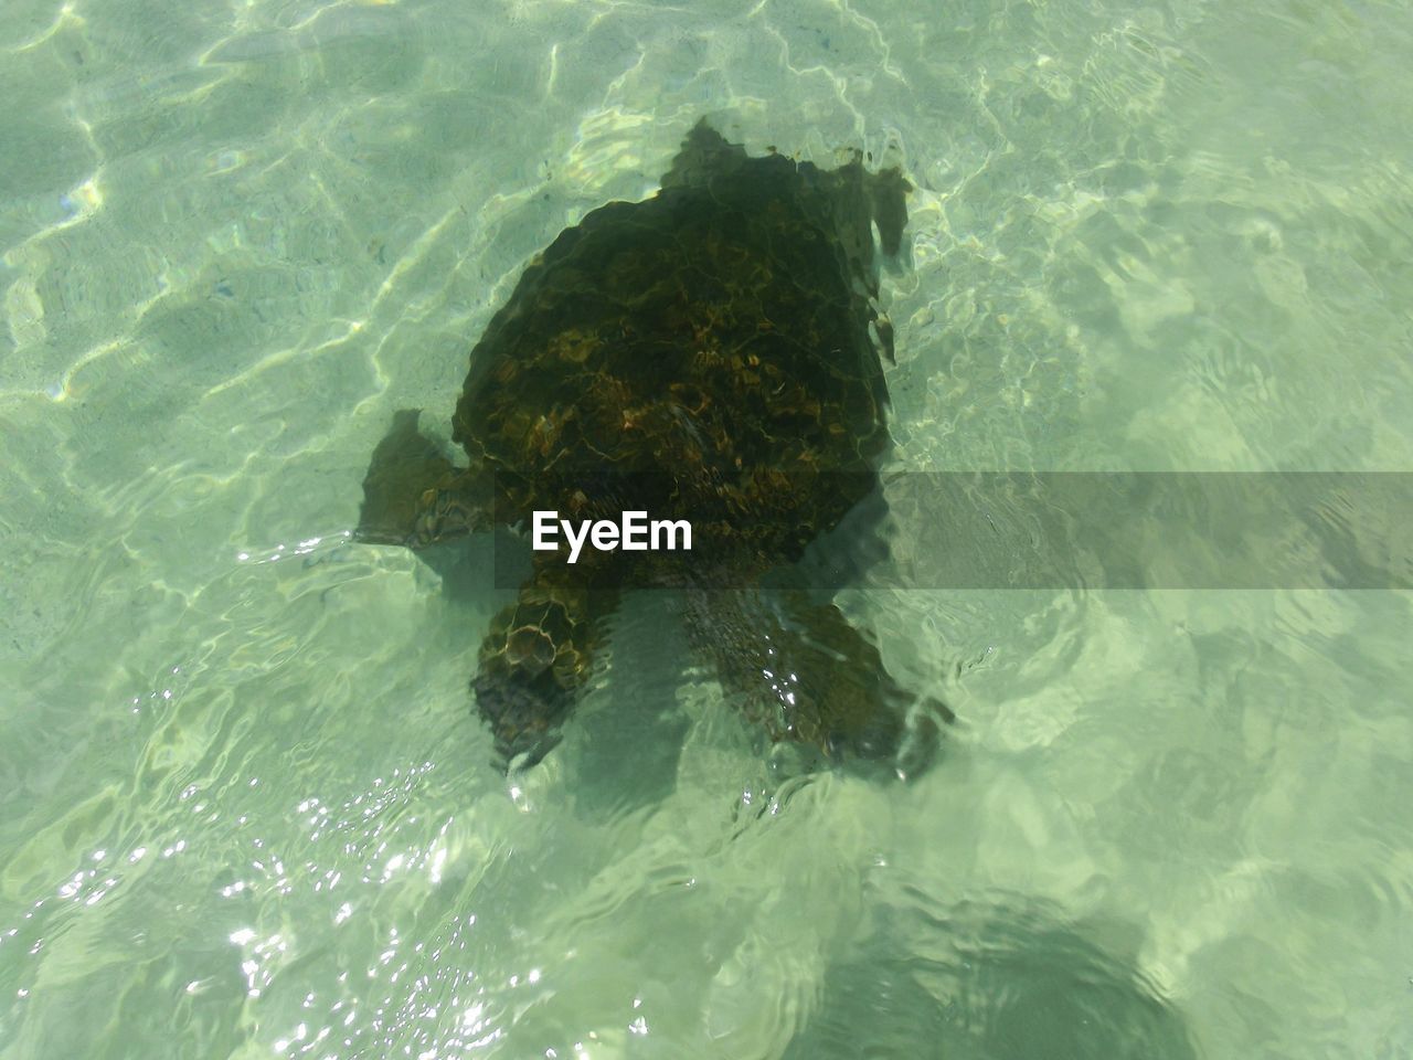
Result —
<path fill-rule="evenodd" d="M 1413 1053 L 1406 594 L 865 584 L 965 721 L 906 789 L 773 783 L 644 598 L 507 790 L 495 601 L 342 540 L 391 411 L 718 112 L 906 161 L 899 468 L 1407 469 L 1410 35 L 7 4 L 0 1056 Z"/>

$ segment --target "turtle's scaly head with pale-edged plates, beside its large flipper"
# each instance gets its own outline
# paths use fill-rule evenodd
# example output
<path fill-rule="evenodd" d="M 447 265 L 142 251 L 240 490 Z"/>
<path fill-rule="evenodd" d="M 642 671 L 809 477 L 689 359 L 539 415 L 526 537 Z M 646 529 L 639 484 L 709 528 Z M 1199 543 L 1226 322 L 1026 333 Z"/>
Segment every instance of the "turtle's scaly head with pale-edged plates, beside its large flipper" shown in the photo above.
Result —
<path fill-rule="evenodd" d="M 560 742 L 616 605 L 616 592 L 585 588 L 554 558 L 537 561 L 519 599 L 492 620 L 471 687 L 502 767 L 533 766 Z"/>

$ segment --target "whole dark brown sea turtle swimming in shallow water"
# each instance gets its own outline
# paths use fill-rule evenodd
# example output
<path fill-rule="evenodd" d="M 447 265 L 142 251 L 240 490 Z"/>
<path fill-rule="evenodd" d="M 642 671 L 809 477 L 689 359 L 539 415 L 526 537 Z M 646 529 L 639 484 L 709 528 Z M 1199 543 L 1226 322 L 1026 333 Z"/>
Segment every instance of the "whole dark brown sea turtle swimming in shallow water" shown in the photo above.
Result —
<path fill-rule="evenodd" d="M 926 750 L 951 719 L 909 709 L 832 602 L 788 578 L 759 588 L 876 496 L 893 349 L 875 226 L 896 254 L 909 191 L 858 153 L 835 170 L 749 157 L 701 122 L 661 191 L 565 229 L 490 319 L 452 420 L 468 468 L 417 411 L 394 417 L 363 482 L 365 541 L 422 548 L 536 510 L 692 527 L 692 551 L 534 554 L 472 681 L 503 765 L 558 741 L 630 584 L 678 591 L 691 643 L 774 741 L 899 767 L 904 742 Z"/>

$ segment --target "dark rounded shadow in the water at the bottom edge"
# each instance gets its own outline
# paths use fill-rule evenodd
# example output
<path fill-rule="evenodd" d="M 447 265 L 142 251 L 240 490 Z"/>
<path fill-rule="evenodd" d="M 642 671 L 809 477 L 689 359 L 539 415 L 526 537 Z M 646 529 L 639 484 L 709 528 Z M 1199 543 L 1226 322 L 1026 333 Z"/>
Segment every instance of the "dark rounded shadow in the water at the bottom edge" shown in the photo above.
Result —
<path fill-rule="evenodd" d="M 1121 955 L 1132 927 L 1070 923 L 1024 902 L 890 910 L 889 921 L 831 970 L 787 1060 L 1198 1056 L 1183 1016 Z"/>

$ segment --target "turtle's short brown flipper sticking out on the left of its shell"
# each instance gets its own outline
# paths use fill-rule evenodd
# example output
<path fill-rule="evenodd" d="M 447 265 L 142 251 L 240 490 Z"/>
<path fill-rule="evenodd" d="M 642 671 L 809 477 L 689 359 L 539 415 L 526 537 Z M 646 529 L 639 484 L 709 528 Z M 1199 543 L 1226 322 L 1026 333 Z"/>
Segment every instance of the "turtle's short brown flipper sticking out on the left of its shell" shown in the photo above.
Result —
<path fill-rule="evenodd" d="M 490 490 L 476 469 L 459 469 L 417 430 L 418 408 L 393 416 L 363 476 L 356 537 L 424 548 L 490 524 Z"/>

